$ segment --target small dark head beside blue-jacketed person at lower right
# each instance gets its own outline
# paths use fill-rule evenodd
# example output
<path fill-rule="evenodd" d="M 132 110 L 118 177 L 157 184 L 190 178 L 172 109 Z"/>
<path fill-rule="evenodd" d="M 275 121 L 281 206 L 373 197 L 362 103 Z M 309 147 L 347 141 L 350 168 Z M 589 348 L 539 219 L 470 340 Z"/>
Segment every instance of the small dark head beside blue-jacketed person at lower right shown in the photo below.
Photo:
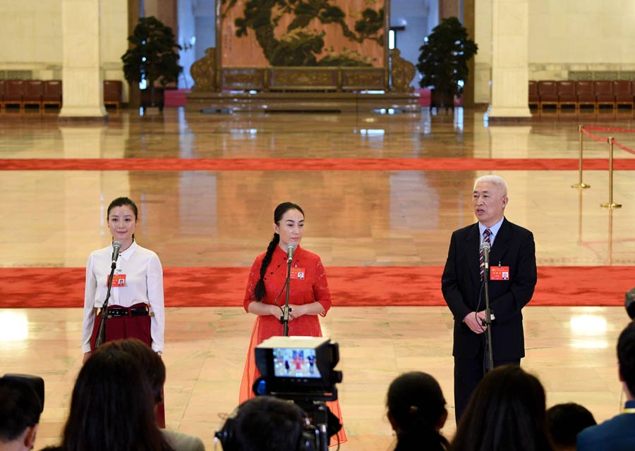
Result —
<path fill-rule="evenodd" d="M 547 409 L 547 427 L 556 451 L 575 451 L 576 435 L 594 424 L 593 414 L 575 402 L 555 404 Z"/>

